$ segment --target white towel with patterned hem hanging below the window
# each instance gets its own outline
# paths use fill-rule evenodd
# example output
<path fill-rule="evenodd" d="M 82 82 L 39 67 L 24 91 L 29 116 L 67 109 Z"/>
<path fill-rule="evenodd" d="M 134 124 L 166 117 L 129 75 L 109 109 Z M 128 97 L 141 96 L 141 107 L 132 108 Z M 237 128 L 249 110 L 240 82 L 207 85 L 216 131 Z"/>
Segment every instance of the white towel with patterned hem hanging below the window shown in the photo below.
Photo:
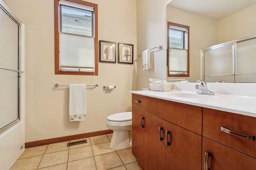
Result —
<path fill-rule="evenodd" d="M 86 115 L 86 84 L 70 84 L 69 120 L 82 121 Z"/>

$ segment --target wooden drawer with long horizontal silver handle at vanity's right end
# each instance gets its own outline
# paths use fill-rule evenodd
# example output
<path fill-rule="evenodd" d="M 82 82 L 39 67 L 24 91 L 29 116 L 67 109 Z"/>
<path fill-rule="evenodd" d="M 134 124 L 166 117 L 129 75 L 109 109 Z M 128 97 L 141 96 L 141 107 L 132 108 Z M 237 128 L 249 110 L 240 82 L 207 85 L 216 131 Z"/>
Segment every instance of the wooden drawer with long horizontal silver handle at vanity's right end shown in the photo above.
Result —
<path fill-rule="evenodd" d="M 221 127 L 244 135 L 225 133 Z M 245 139 L 245 135 L 256 135 L 256 117 L 203 108 L 204 137 L 256 158 L 256 141 Z"/>

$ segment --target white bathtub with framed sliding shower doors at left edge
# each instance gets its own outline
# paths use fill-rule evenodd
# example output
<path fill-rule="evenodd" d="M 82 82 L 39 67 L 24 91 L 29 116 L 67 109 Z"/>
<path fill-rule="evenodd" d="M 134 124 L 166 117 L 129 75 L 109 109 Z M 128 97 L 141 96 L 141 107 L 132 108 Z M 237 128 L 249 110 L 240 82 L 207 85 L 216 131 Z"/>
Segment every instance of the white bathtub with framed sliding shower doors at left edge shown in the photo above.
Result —
<path fill-rule="evenodd" d="M 0 169 L 24 150 L 24 25 L 0 0 Z M 22 118 L 23 117 L 23 118 Z"/>

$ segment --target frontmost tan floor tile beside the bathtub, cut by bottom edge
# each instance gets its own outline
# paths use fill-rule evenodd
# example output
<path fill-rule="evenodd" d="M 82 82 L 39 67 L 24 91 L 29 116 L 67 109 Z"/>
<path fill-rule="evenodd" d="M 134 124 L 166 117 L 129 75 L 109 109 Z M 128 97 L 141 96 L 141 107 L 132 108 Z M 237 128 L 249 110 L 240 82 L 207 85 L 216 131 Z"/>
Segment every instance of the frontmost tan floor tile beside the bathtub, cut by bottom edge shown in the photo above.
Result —
<path fill-rule="evenodd" d="M 19 159 L 14 162 L 9 170 L 36 170 L 43 155 Z"/>

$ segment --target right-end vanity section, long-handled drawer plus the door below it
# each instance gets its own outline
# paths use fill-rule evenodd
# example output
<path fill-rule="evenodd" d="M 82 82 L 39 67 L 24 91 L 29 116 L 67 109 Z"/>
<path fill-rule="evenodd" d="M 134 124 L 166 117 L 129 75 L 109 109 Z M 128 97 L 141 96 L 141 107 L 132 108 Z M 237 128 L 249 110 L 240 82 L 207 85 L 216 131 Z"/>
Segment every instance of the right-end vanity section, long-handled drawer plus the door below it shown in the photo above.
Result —
<path fill-rule="evenodd" d="M 226 133 L 221 127 L 234 132 Z M 234 135 L 237 132 L 239 135 Z M 256 135 L 255 117 L 203 108 L 203 170 L 256 169 L 256 141 L 246 135 Z"/>

